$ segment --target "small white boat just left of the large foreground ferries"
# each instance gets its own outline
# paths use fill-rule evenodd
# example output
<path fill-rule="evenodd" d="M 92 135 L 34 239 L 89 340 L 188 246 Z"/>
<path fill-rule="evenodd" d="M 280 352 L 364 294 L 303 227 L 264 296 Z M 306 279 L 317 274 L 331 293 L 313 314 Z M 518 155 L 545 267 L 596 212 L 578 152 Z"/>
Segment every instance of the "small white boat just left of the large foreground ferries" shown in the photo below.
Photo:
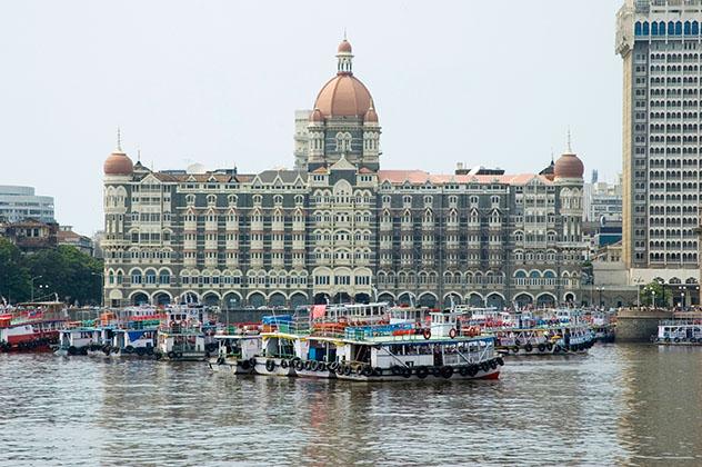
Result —
<path fill-rule="evenodd" d="M 255 366 L 255 356 L 261 352 L 261 335 L 258 331 L 218 334 L 215 357 L 210 357 L 209 367 L 213 371 L 232 375 L 250 375 Z"/>

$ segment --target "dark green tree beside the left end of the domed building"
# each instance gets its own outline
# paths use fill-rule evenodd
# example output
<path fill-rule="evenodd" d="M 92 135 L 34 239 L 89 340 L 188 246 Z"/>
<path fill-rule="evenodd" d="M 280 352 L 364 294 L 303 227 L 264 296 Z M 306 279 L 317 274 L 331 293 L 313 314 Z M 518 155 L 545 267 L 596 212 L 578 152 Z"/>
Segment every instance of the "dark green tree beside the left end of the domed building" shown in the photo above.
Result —
<path fill-rule="evenodd" d="M 71 246 L 59 246 L 28 257 L 32 276 L 41 276 L 38 284 L 47 295 L 57 294 L 59 300 L 73 305 L 98 305 L 102 296 L 102 260 L 92 258 Z M 48 298 L 48 297 L 42 297 Z"/>

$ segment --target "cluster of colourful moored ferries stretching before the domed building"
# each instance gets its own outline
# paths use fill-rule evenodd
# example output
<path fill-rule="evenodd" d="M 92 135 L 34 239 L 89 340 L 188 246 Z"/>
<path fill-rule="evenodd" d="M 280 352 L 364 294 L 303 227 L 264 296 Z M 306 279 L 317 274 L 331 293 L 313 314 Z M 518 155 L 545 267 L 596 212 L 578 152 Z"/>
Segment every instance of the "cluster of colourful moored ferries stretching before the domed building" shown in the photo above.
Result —
<path fill-rule="evenodd" d="M 218 322 L 215 311 L 182 302 L 107 310 L 88 321 L 49 310 L 6 312 L 0 316 L 0 349 L 207 361 L 213 371 L 234 375 L 468 380 L 499 378 L 510 358 L 584 354 L 598 331 L 610 326 L 573 309 L 315 305 L 233 326 Z"/>

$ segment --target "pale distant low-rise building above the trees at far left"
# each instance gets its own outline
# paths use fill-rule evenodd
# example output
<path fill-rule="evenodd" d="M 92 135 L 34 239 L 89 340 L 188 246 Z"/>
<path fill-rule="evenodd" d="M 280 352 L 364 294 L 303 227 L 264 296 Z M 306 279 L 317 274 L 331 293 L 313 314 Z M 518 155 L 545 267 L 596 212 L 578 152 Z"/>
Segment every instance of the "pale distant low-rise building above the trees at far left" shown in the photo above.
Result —
<path fill-rule="evenodd" d="M 24 219 L 53 222 L 53 198 L 34 195 L 32 187 L 0 185 L 0 222 Z"/>

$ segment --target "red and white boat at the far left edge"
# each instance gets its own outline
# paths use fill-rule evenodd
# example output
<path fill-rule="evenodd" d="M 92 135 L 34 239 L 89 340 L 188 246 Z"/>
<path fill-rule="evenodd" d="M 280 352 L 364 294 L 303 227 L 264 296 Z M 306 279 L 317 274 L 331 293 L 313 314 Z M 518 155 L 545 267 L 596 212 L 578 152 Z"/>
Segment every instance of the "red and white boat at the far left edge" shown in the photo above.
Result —
<path fill-rule="evenodd" d="M 67 318 L 61 302 L 22 304 L 0 314 L 0 351 L 51 351 Z"/>

